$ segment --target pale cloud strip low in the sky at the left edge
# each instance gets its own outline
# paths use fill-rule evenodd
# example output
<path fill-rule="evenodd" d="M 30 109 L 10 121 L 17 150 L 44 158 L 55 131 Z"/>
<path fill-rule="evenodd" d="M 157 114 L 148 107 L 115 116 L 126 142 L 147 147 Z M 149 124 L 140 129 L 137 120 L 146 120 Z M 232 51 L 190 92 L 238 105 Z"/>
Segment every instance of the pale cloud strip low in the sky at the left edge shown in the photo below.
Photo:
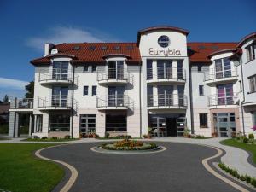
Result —
<path fill-rule="evenodd" d="M 0 77 L 0 88 L 8 88 L 14 90 L 25 90 L 25 86 L 28 84 L 26 81 L 17 79 L 7 79 Z"/>

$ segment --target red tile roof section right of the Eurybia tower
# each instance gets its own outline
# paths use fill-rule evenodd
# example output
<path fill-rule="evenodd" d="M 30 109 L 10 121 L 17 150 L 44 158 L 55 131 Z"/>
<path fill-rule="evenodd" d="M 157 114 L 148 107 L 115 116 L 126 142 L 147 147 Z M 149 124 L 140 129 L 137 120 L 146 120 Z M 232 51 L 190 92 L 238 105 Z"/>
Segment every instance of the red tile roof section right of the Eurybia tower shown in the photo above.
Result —
<path fill-rule="evenodd" d="M 223 49 L 236 49 L 237 43 L 201 43 L 191 42 L 188 43 L 188 54 L 190 62 L 212 62 L 207 55 L 223 50 Z"/>

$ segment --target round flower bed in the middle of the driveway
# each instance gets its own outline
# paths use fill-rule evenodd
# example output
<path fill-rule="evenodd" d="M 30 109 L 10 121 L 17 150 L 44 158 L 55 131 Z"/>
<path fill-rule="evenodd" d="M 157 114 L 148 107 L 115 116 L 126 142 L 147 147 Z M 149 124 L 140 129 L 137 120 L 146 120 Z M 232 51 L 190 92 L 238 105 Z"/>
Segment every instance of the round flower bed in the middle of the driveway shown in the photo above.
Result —
<path fill-rule="evenodd" d="M 104 143 L 101 148 L 107 150 L 148 150 L 158 148 L 155 143 L 144 143 L 136 140 L 125 139 L 115 143 Z"/>

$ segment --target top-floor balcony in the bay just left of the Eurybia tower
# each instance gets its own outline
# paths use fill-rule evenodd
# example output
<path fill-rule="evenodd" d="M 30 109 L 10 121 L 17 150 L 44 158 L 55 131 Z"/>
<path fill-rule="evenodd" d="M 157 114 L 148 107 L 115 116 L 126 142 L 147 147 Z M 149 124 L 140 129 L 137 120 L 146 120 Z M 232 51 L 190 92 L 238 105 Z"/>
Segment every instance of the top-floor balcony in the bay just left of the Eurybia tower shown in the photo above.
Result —
<path fill-rule="evenodd" d="M 97 81 L 99 84 L 132 84 L 133 75 L 124 69 L 108 69 L 108 72 L 97 72 Z"/>

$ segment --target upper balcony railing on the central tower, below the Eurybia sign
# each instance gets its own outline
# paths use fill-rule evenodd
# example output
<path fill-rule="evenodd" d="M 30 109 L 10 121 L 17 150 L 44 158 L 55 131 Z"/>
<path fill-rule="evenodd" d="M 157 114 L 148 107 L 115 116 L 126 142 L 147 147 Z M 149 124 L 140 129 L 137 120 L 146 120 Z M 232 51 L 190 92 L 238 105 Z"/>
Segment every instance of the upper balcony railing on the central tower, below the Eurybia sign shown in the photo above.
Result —
<path fill-rule="evenodd" d="M 147 69 L 147 79 L 177 79 L 177 80 L 185 80 L 186 73 L 184 69 L 171 67 L 171 68 L 157 68 L 156 73 L 153 73 L 152 68 Z"/>

